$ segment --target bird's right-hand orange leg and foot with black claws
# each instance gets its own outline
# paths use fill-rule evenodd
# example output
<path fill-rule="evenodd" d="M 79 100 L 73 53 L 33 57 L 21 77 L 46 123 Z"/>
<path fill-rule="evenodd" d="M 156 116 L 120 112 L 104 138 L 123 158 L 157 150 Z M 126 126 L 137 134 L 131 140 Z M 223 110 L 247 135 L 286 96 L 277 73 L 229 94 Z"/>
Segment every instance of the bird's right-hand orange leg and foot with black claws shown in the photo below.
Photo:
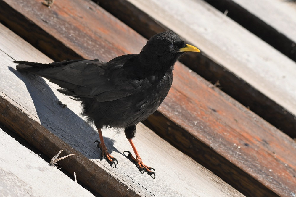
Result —
<path fill-rule="evenodd" d="M 141 172 L 143 171 L 143 173 L 144 173 L 146 171 L 149 175 L 152 175 L 153 174 L 154 175 L 154 178 L 155 178 L 155 169 L 152 168 L 152 167 L 149 167 L 149 166 L 147 166 L 147 165 L 145 165 L 143 163 L 143 161 L 142 161 L 142 159 L 141 159 L 141 157 L 140 157 L 140 155 L 139 155 L 139 153 L 138 153 L 138 151 L 137 151 L 137 149 L 136 149 L 136 147 L 135 147 L 132 139 L 128 139 L 128 141 L 131 144 L 131 147 L 133 148 L 133 151 L 134 151 L 134 153 L 136 155 L 136 158 L 133 157 L 133 155 L 131 154 L 131 152 L 129 152 L 129 151 L 124 151 L 124 152 L 127 152 L 128 153 L 128 157 L 130 159 L 132 159 L 133 163 L 136 164 L 136 166 L 138 167 L 138 169 Z M 151 171 L 152 169 L 154 170 L 154 172 Z"/>

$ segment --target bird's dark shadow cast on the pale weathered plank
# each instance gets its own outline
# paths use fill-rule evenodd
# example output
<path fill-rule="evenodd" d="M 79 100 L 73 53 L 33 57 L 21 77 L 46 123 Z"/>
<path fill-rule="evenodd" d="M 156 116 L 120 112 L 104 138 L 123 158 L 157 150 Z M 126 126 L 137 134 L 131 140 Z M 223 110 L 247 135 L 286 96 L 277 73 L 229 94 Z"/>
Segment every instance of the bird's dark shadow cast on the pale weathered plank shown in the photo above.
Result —
<path fill-rule="evenodd" d="M 91 153 L 84 154 L 89 159 L 101 159 L 101 151 L 97 148 L 96 143 L 94 143 L 99 138 L 99 135 L 96 134 L 97 132 L 89 123 L 67 108 L 66 103 L 59 101 L 42 77 L 28 72 L 18 72 L 12 67 L 8 68 L 25 83 L 42 126 L 46 127 L 59 138 L 66 138 L 67 141 L 73 143 L 70 143 L 73 148 L 77 150 L 78 147 L 78 151 L 79 146 L 89 147 Z M 77 102 L 77 104 L 79 103 Z M 56 110 L 52 110 L 54 108 Z M 94 134 L 97 135 L 95 139 L 93 137 Z M 112 151 L 122 154 L 114 147 L 114 140 L 112 138 L 104 137 L 104 142 L 110 154 Z M 125 156 L 124 154 L 122 155 Z"/>

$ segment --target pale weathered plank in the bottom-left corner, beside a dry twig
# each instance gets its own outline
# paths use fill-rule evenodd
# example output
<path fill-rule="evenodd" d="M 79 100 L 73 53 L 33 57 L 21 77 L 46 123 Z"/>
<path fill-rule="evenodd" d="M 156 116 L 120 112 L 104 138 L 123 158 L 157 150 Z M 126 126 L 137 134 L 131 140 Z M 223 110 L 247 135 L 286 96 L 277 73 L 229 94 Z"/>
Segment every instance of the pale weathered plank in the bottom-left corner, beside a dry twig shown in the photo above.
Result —
<path fill-rule="evenodd" d="M 3 196 L 94 196 L 0 128 Z M 73 174 L 74 177 L 74 174 Z"/>

